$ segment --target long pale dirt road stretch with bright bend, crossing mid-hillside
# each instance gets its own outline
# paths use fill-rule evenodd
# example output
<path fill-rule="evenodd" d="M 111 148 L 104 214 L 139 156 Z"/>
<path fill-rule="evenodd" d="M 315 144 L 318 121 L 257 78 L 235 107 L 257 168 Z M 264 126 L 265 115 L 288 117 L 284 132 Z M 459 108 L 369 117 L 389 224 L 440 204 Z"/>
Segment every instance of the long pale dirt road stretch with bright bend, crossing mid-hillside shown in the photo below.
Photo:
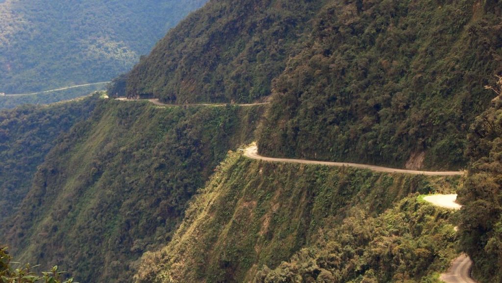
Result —
<path fill-rule="evenodd" d="M 407 169 L 396 169 L 388 168 L 375 165 L 367 164 L 357 164 L 349 162 L 331 162 L 331 161 L 316 161 L 316 160 L 305 160 L 305 159 L 290 159 L 290 158 L 275 158 L 275 157 L 265 157 L 258 154 L 257 146 L 250 146 L 244 149 L 244 155 L 248 158 L 271 161 L 271 162 L 287 162 L 287 163 L 302 163 L 302 164 L 318 164 L 327 166 L 337 166 L 337 167 L 354 167 L 361 169 L 369 169 L 375 172 L 386 172 L 386 173 L 403 173 L 403 174 L 414 174 L 414 175 L 429 175 L 429 176 L 456 176 L 463 175 L 463 171 L 419 171 L 419 170 L 407 170 Z"/>

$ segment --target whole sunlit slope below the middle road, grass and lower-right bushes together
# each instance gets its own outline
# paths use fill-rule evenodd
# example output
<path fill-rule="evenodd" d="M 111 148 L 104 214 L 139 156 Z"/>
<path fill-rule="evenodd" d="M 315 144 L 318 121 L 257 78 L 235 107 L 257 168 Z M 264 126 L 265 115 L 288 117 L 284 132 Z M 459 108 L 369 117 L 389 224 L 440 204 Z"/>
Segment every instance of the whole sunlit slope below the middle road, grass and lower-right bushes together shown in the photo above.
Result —
<path fill-rule="evenodd" d="M 458 181 L 230 153 L 172 241 L 144 256 L 137 282 L 422 282 L 449 266 L 456 237 L 451 212 L 413 194 Z M 281 263 L 297 252 L 302 262 Z"/>

